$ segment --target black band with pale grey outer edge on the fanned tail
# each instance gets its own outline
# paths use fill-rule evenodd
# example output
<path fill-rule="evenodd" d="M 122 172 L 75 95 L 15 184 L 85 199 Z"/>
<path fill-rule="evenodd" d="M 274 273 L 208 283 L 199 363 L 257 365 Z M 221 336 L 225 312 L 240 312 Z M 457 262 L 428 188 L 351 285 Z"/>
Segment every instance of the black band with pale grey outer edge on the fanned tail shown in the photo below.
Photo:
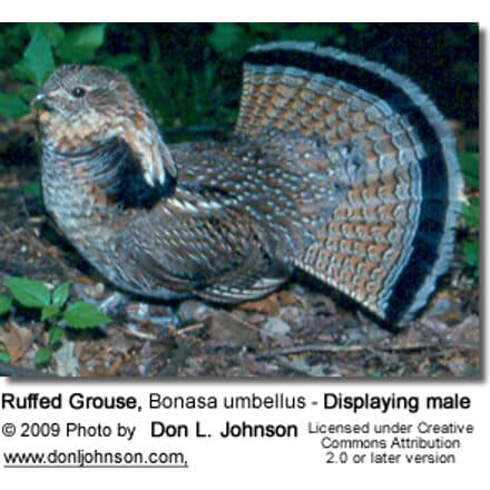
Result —
<path fill-rule="evenodd" d="M 384 318 L 390 323 L 409 320 L 427 302 L 452 254 L 461 178 L 452 136 L 443 117 L 406 78 L 336 49 L 272 43 L 249 51 L 245 61 L 295 67 L 345 81 L 380 97 L 415 128 L 427 154 L 419 161 L 422 205 L 410 258 L 393 284 L 384 310 Z"/>

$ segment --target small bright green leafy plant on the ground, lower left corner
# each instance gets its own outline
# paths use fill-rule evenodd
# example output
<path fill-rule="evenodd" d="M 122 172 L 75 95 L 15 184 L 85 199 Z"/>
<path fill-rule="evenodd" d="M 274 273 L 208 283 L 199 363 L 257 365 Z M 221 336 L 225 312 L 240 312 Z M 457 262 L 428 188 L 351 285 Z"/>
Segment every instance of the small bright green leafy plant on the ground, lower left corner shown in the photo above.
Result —
<path fill-rule="evenodd" d="M 36 362 L 39 365 L 47 364 L 51 359 L 52 350 L 61 343 L 66 332 L 61 326 L 84 330 L 111 322 L 109 316 L 90 303 L 82 301 L 69 303 L 69 283 L 58 285 L 52 293 L 40 281 L 26 277 L 7 277 L 4 284 L 11 296 L 0 295 L 0 315 L 7 314 L 11 311 L 12 304 L 17 303 L 26 308 L 39 311 L 39 318 L 48 330 L 47 345 L 41 346 L 36 353 Z"/>

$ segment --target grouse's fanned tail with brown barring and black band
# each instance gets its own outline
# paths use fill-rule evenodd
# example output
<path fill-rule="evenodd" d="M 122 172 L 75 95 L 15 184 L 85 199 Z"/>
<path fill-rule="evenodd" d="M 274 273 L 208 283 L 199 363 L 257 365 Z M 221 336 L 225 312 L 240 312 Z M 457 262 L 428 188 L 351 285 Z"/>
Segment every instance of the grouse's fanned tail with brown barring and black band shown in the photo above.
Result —
<path fill-rule="evenodd" d="M 344 168 L 349 182 L 294 264 L 391 323 L 409 321 L 449 267 L 462 195 L 439 110 L 380 63 L 311 43 L 270 43 L 247 55 L 236 133 L 274 131 L 325 145 L 325 171 Z M 355 175 L 345 147 L 357 148 Z"/>

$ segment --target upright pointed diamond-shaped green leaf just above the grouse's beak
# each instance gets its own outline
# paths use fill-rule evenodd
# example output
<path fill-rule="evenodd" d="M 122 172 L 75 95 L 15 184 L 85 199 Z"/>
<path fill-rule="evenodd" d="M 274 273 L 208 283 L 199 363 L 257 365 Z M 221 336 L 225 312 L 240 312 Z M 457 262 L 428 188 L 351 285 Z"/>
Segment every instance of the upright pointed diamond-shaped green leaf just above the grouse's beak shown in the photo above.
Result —
<path fill-rule="evenodd" d="M 14 71 L 20 78 L 40 87 L 53 70 L 55 59 L 48 39 L 42 30 L 37 28 Z"/>

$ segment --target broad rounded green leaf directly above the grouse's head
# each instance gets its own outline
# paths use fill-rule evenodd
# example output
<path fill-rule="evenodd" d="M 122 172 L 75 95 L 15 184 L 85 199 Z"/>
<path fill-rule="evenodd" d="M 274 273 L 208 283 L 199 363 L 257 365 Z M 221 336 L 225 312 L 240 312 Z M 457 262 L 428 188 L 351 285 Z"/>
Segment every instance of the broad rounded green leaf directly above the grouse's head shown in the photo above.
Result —
<path fill-rule="evenodd" d="M 56 53 L 62 61 L 91 61 L 104 43 L 105 23 L 84 26 L 69 31 L 59 43 Z"/>

